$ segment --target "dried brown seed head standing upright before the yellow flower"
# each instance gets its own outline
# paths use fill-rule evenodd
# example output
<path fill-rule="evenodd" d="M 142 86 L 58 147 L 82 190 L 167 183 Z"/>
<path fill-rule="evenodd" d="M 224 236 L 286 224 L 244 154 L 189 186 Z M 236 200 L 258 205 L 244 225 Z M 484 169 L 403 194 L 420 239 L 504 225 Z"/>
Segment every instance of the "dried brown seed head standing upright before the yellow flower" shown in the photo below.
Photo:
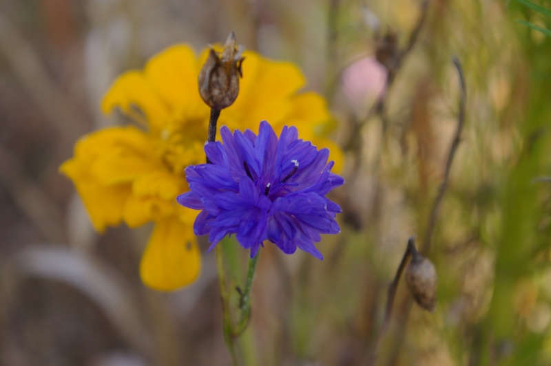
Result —
<path fill-rule="evenodd" d="M 236 46 L 236 34 L 231 32 L 222 54 L 211 48 L 199 74 L 199 94 L 209 107 L 224 109 L 233 104 L 239 94 L 239 78 L 243 47 Z"/>

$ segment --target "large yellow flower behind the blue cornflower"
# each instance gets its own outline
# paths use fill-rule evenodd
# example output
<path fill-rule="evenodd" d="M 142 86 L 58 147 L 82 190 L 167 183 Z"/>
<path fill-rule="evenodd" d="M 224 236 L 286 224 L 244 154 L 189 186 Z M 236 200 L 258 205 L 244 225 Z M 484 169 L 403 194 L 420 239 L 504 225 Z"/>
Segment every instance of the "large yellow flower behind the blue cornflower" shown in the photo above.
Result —
<path fill-rule="evenodd" d="M 205 162 L 209 107 L 197 78 L 207 54 L 197 58 L 190 47 L 176 45 L 151 58 L 143 71 L 119 76 L 103 99 L 103 112 L 119 107 L 136 125 L 84 136 L 60 167 L 99 232 L 121 222 L 132 228 L 154 222 L 140 272 L 157 290 L 188 285 L 200 271 L 192 228 L 196 211 L 176 204 L 176 195 L 188 189 L 185 167 Z M 331 116 L 321 96 L 299 92 L 305 80 L 298 67 L 255 52 L 244 56 L 240 94 L 222 111 L 218 126 L 257 132 L 260 120 L 269 120 L 279 132 L 294 125 L 304 140 L 329 147 L 339 169 L 342 151 L 320 136 Z"/>

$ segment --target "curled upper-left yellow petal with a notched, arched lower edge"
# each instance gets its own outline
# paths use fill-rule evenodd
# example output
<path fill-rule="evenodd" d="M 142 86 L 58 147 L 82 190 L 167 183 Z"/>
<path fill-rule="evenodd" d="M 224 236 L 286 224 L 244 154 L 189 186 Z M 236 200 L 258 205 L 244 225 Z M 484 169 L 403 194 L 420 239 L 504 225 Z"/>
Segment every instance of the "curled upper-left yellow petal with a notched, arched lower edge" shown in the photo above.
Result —
<path fill-rule="evenodd" d="M 120 107 L 123 113 L 136 122 L 156 129 L 162 129 L 169 115 L 168 106 L 163 104 L 143 73 L 138 71 L 125 72 L 119 76 L 105 94 L 101 104 L 103 113 L 109 114 L 114 107 Z M 145 120 L 136 109 L 145 114 Z"/>

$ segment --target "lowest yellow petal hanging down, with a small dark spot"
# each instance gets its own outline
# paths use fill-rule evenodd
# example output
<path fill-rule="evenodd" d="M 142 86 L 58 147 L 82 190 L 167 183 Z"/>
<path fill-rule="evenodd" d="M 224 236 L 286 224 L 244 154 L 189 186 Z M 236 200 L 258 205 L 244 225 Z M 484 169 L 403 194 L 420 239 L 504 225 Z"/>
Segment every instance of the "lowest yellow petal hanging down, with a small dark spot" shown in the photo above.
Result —
<path fill-rule="evenodd" d="M 193 283 L 200 268 L 200 252 L 191 227 L 176 217 L 157 222 L 140 265 L 143 283 L 155 290 L 176 290 Z"/>

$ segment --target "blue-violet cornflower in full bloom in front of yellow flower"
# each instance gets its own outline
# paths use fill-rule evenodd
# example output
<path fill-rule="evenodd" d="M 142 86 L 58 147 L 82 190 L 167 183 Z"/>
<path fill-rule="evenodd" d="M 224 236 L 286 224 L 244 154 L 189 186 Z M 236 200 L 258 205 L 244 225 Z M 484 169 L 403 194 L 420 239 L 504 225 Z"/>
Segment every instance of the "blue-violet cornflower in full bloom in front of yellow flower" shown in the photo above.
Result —
<path fill-rule="evenodd" d="M 314 242 L 320 234 L 337 234 L 339 205 L 325 197 L 344 184 L 331 173 L 328 149 L 298 139 L 295 127 L 285 126 L 280 138 L 268 122 L 260 122 L 256 136 L 227 127 L 222 143 L 209 142 L 205 153 L 211 164 L 185 169 L 189 192 L 178 196 L 186 207 L 202 210 L 194 223 L 196 235 L 209 234 L 214 248 L 225 235 L 236 234 L 243 248 L 256 255 L 264 240 L 291 254 L 296 248 L 318 259 Z"/>

